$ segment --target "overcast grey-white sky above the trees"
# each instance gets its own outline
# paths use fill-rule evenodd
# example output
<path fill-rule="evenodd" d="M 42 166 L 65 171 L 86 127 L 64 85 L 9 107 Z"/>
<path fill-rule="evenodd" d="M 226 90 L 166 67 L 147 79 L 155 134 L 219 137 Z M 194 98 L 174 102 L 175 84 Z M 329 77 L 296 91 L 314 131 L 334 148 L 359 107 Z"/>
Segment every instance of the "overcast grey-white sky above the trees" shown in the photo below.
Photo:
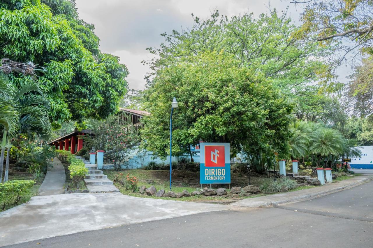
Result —
<path fill-rule="evenodd" d="M 191 13 L 207 18 L 215 9 L 220 15 L 240 15 L 253 12 L 255 16 L 276 8 L 286 9 L 296 24 L 302 9 L 285 0 L 76 0 L 81 19 L 93 23 L 95 33 L 101 39 L 100 49 L 121 58 L 129 70 L 127 81 L 131 89 L 144 89 L 144 75 L 150 71 L 142 60 L 151 58 L 147 47 L 159 47 L 164 41 L 160 34 L 173 29 L 192 26 Z M 351 66 L 337 71 L 341 81 L 351 72 Z"/>

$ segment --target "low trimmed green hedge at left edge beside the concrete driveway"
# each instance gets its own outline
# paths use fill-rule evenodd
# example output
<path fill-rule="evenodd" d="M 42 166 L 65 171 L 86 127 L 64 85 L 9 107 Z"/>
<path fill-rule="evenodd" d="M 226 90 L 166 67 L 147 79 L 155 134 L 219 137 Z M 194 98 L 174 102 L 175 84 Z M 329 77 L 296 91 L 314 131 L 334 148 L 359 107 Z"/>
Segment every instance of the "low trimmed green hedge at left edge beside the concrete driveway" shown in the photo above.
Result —
<path fill-rule="evenodd" d="M 0 183 L 0 202 L 2 209 L 10 204 L 18 204 L 22 197 L 28 195 L 35 182 L 32 180 L 11 180 Z"/>

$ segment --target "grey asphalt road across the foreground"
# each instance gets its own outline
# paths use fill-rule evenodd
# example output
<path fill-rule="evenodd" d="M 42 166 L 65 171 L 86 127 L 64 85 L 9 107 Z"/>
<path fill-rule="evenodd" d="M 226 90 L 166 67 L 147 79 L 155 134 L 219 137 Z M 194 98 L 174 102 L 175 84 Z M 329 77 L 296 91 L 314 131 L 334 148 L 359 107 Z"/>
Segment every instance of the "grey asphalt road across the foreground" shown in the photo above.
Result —
<path fill-rule="evenodd" d="M 10 247 L 373 247 L 373 182 L 283 206 L 193 214 Z"/>

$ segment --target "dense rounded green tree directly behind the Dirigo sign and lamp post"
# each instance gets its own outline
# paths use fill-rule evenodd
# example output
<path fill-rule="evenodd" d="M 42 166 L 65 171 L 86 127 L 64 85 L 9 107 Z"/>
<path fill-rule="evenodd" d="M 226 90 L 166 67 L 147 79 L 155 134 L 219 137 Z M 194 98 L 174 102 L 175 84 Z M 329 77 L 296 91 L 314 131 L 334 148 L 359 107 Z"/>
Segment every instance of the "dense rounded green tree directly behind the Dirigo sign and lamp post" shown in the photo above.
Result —
<path fill-rule="evenodd" d="M 189 145 L 229 142 L 232 153 L 286 153 L 292 106 L 263 73 L 239 67 L 240 61 L 221 51 L 206 52 L 159 69 L 145 91 L 151 115 L 140 129 L 144 145 L 155 156 L 169 154 L 171 100 L 174 111 L 172 154 L 191 153 Z M 270 151 L 270 152 L 269 152 Z"/>

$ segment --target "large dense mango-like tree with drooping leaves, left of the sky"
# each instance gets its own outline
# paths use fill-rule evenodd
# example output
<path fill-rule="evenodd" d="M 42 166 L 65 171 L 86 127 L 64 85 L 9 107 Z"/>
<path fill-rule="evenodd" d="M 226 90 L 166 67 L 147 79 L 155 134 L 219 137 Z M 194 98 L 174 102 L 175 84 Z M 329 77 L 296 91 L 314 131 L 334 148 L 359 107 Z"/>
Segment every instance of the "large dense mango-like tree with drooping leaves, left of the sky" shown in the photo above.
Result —
<path fill-rule="evenodd" d="M 0 8 L 0 57 L 44 68 L 37 83 L 50 102 L 51 121 L 116 113 L 128 70 L 100 52 L 94 26 L 79 19 L 74 1 L 1 1 Z M 22 74 L 10 79 L 16 87 L 33 81 Z"/>

